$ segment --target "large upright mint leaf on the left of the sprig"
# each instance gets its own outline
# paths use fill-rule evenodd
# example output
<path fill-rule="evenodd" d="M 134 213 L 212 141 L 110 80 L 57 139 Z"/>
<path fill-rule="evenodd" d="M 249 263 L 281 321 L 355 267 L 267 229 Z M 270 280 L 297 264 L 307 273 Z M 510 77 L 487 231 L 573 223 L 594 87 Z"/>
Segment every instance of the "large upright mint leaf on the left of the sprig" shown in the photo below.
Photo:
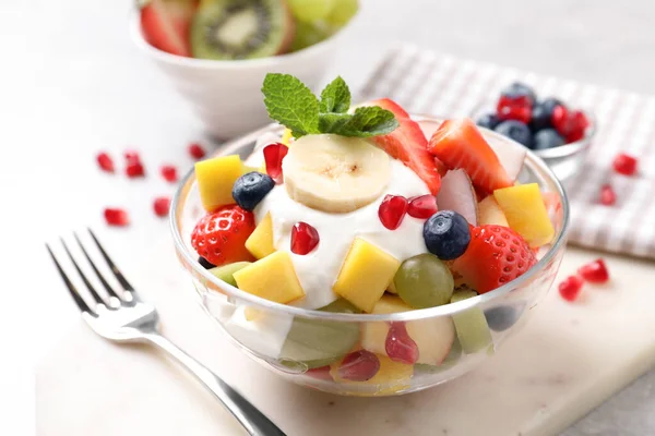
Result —
<path fill-rule="evenodd" d="M 319 131 L 319 100 L 302 82 L 289 74 L 269 73 L 262 86 L 271 119 L 300 137 Z"/>

